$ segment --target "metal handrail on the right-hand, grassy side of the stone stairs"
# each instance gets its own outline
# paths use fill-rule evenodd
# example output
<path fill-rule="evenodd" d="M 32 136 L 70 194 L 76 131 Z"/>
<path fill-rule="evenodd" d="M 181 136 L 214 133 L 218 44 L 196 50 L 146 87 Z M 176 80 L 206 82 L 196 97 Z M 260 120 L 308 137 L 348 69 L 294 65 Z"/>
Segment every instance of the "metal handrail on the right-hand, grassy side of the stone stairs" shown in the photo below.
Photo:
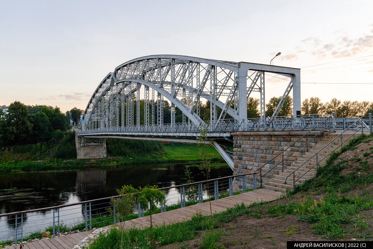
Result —
<path fill-rule="evenodd" d="M 346 132 L 347 130 L 350 129 L 350 127 L 354 126 L 355 124 L 357 124 L 359 121 L 361 122 L 361 134 L 364 133 L 364 129 L 363 129 L 363 118 L 365 118 L 364 116 L 361 116 L 358 120 L 356 120 L 354 123 L 350 124 L 350 126 L 348 126 L 345 130 L 343 130 L 341 132 L 340 135 L 336 136 L 332 141 L 330 141 L 329 143 L 327 143 L 323 148 L 319 149 L 319 151 L 317 151 L 314 155 L 312 155 L 310 158 L 308 158 L 303 164 L 301 164 L 298 168 L 296 168 L 295 170 L 293 170 L 290 174 L 288 174 L 288 176 L 286 176 L 285 178 L 285 181 L 284 181 L 284 184 L 286 183 L 286 181 L 288 180 L 288 177 L 291 176 L 291 174 L 293 174 L 293 186 L 295 186 L 295 183 L 301 179 L 305 174 L 307 174 L 311 169 L 313 169 L 314 167 L 316 167 L 316 174 L 317 174 L 317 170 L 318 170 L 318 165 L 321 161 L 323 161 L 326 157 L 328 157 L 330 154 L 332 154 L 336 149 L 339 148 L 339 146 L 341 146 L 341 148 L 343 147 L 343 139 L 342 139 L 342 134 L 344 132 Z M 350 139 L 352 136 L 354 136 L 358 131 L 360 131 L 360 129 L 357 129 L 356 132 L 354 132 L 349 138 L 346 139 L 346 141 L 348 141 L 348 139 Z M 330 152 L 329 154 L 327 154 L 322 160 L 319 161 L 319 158 L 318 158 L 318 154 L 320 153 L 320 151 L 322 151 L 323 149 L 326 148 L 326 146 L 330 145 L 335 139 L 337 139 L 338 137 L 341 138 L 341 145 L 338 145 L 332 152 Z M 312 166 L 311 168 L 309 168 L 301 177 L 299 177 L 297 180 L 295 180 L 295 171 L 297 171 L 300 167 L 302 167 L 305 163 L 307 163 L 309 160 L 311 160 L 311 158 L 313 158 L 314 156 L 316 155 L 316 164 L 314 166 Z"/>

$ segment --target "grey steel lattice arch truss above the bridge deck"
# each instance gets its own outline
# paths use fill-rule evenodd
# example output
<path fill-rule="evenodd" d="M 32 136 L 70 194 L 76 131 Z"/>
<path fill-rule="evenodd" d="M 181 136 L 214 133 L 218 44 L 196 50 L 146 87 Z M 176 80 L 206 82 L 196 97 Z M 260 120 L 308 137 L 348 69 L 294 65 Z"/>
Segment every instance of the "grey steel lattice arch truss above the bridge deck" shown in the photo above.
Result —
<path fill-rule="evenodd" d="M 183 122 L 201 121 L 199 106 L 206 100 L 210 101 L 213 122 L 227 115 L 238 119 L 238 77 L 238 63 L 235 62 L 195 61 L 182 56 L 133 60 L 117 67 L 101 81 L 85 110 L 82 129 L 163 124 L 164 101 L 170 103 L 172 124 L 176 108 L 182 111 Z M 245 77 L 246 97 L 260 92 L 263 117 L 264 72 L 248 70 Z M 285 98 L 291 86 L 292 82 L 285 91 Z M 143 107 L 140 107 L 140 100 L 144 100 Z M 140 108 L 144 109 L 143 117 L 140 117 Z"/>

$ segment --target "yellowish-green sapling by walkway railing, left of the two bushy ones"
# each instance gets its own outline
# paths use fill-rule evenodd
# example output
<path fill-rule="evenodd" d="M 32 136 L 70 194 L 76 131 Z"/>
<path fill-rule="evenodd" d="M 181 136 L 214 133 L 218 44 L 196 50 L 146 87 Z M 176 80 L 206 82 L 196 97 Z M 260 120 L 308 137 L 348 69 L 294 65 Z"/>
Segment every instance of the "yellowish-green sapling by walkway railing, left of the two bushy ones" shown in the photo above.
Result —
<path fill-rule="evenodd" d="M 125 185 L 121 189 L 117 189 L 119 198 L 111 198 L 111 204 L 114 208 L 108 208 L 107 211 L 114 216 L 115 220 L 120 221 L 122 235 L 120 237 L 120 248 L 123 248 L 123 231 L 126 218 L 134 212 L 135 200 L 138 195 L 138 190 L 131 185 Z"/>

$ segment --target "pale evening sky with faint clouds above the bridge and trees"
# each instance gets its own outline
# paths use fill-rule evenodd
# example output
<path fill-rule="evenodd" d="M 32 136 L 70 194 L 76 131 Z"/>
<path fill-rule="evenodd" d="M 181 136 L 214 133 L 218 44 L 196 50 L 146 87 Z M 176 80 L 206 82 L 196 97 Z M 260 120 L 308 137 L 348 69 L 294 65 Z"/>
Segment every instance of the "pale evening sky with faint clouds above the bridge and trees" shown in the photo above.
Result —
<path fill-rule="evenodd" d="M 372 10 L 361 0 L 0 0 L 0 105 L 84 110 L 109 72 L 142 56 L 269 64 L 279 51 L 275 65 L 301 68 L 302 101 L 373 101 Z M 287 85 L 269 74 L 266 101 Z"/>

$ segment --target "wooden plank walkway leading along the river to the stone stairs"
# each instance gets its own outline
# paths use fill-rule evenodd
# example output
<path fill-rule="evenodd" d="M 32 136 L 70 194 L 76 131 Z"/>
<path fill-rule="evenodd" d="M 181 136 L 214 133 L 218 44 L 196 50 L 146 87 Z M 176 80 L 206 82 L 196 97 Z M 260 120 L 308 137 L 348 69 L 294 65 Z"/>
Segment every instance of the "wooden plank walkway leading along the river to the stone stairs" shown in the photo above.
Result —
<path fill-rule="evenodd" d="M 271 201 L 281 196 L 281 193 L 267 189 L 257 189 L 239 195 L 228 196 L 226 198 L 211 201 L 211 210 L 213 213 L 225 211 L 227 208 L 232 208 L 236 204 L 244 203 L 250 205 L 253 202 Z M 190 220 L 197 212 L 203 215 L 210 215 L 209 202 L 195 204 L 185 208 L 179 208 L 151 216 L 153 225 L 162 226 L 163 224 L 172 224 L 179 221 Z M 117 224 L 119 226 L 119 224 Z M 145 228 L 150 226 L 150 216 L 137 218 L 125 222 L 125 227 Z M 22 245 L 22 249 L 69 249 L 77 245 L 81 240 L 91 234 L 94 230 L 81 233 L 69 234 L 62 237 L 43 239 Z M 18 246 L 9 246 L 6 249 L 19 249 Z"/>

